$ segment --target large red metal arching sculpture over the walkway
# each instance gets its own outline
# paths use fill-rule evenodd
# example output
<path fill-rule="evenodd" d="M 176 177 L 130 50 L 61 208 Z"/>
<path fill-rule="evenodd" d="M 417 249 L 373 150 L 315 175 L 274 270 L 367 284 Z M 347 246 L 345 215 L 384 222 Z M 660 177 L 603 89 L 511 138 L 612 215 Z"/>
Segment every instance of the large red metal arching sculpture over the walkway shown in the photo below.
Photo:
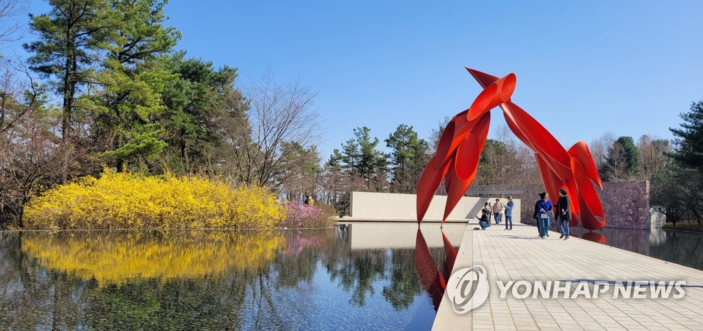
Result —
<path fill-rule="evenodd" d="M 418 223 L 425 217 L 432 197 L 445 181 L 447 192 L 442 224 L 456 207 L 460 198 L 476 177 L 479 156 L 486 144 L 491 109 L 503 109 L 508 128 L 527 145 L 537 161 L 537 166 L 547 193 L 557 198 L 559 189 L 565 188 L 571 196 L 572 220 L 569 227 L 581 225 L 589 230 L 605 226 L 605 213 L 593 184 L 603 188 L 598 170 L 586 142 L 577 142 L 568 151 L 532 116 L 527 114 L 510 97 L 515 90 L 515 74 L 498 79 L 496 76 L 466 68 L 484 90 L 469 109 L 449 121 L 437 146 L 437 153 L 425 166 L 418 181 Z"/>

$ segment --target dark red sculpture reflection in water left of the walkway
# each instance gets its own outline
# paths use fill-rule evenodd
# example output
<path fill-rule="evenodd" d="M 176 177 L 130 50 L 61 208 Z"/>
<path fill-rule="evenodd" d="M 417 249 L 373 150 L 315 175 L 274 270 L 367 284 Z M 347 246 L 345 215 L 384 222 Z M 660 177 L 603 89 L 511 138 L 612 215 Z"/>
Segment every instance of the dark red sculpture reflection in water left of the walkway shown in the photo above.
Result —
<path fill-rule="evenodd" d="M 451 244 L 449 238 L 441 231 L 442 242 L 444 243 L 444 262 L 442 263 L 442 271 L 437 267 L 437 262 L 430 254 L 430 248 L 427 247 L 427 241 L 423 236 L 423 231 L 418 227 L 418 234 L 415 237 L 415 269 L 418 271 L 420 281 L 423 283 L 423 288 L 427 295 L 430 295 L 434 311 L 439 309 L 441 298 L 444 296 L 446 289 L 446 279 L 451 275 L 456 261 L 456 248 Z"/>

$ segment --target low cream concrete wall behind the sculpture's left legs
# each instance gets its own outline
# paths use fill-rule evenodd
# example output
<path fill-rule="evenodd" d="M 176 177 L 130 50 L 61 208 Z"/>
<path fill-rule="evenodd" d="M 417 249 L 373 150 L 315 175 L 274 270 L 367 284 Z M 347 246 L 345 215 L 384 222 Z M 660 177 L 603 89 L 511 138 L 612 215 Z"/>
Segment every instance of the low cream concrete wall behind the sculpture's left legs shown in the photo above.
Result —
<path fill-rule="evenodd" d="M 449 215 L 448 220 L 466 222 L 467 219 L 475 219 L 480 215 L 486 201 L 494 203 L 496 198 L 477 198 L 465 196 L 461 198 L 456 208 Z M 392 193 L 371 193 L 352 192 L 352 203 L 350 217 L 355 220 L 363 219 L 387 219 L 416 221 L 415 194 L 392 194 Z M 515 207 L 512 210 L 512 222 L 520 222 L 520 199 L 514 199 Z M 501 198 L 501 203 L 508 203 L 508 199 Z M 444 205 L 446 196 L 434 196 L 430 208 L 427 209 L 425 220 L 441 221 L 444 215 Z"/>

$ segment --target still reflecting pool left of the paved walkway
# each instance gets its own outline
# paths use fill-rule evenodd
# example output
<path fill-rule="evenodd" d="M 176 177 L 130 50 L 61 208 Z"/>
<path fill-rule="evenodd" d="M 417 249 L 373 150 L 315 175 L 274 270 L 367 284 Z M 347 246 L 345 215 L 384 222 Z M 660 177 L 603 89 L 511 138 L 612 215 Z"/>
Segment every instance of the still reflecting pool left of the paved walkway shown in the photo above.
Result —
<path fill-rule="evenodd" d="M 0 328 L 428 330 L 464 229 L 0 232 Z"/>

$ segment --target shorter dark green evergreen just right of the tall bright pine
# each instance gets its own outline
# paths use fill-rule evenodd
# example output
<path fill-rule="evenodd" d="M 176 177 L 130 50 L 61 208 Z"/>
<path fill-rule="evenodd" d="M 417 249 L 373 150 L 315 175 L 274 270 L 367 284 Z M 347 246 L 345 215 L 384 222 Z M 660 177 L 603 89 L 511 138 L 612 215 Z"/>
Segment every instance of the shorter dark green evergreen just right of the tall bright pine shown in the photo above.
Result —
<path fill-rule="evenodd" d="M 169 168 L 189 172 L 220 155 L 221 144 L 238 151 L 252 149 L 247 102 L 234 86 L 237 69 L 215 69 L 212 62 L 186 58 L 177 53 L 169 58 L 169 71 L 178 79 L 169 81 L 162 95 L 167 109 L 162 127 L 169 149 Z M 214 154 L 214 155 L 207 155 Z"/>

